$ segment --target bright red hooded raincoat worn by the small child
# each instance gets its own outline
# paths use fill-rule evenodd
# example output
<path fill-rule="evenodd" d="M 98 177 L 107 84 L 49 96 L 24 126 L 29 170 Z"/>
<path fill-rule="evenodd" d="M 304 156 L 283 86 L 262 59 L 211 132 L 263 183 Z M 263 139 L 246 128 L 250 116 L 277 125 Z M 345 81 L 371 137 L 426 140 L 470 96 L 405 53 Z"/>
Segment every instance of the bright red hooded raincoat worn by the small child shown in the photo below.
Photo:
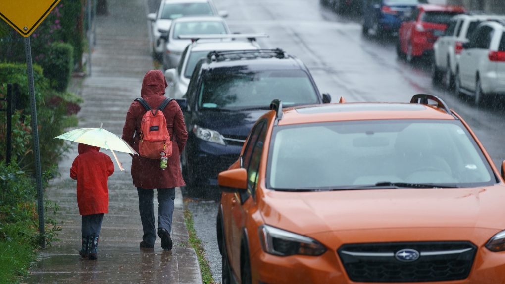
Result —
<path fill-rule="evenodd" d="M 79 155 L 70 168 L 70 177 L 77 180 L 79 214 L 109 213 L 107 182 L 114 173 L 114 163 L 99 147 L 79 143 Z"/>

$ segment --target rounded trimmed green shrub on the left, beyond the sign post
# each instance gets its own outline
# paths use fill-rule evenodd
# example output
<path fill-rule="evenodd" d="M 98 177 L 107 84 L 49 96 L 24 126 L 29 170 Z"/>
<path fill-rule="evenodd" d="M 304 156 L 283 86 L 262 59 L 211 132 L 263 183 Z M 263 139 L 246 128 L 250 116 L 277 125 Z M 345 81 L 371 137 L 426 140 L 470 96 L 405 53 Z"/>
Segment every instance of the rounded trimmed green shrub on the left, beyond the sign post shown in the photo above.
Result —
<path fill-rule="evenodd" d="M 44 77 L 49 80 L 52 88 L 64 92 L 72 78 L 74 70 L 74 48 L 69 43 L 55 42 L 51 44 L 47 55 L 40 63 Z"/>

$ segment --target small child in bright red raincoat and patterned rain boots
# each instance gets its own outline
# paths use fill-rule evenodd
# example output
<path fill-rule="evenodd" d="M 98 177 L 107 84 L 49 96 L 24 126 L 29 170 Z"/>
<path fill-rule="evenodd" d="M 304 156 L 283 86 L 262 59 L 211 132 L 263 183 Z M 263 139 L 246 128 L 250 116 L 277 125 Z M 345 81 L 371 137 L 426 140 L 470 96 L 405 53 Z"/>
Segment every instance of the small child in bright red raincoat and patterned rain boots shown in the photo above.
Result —
<path fill-rule="evenodd" d="M 79 155 L 70 169 L 70 177 L 77 180 L 77 205 L 82 215 L 82 248 L 79 254 L 96 259 L 98 235 L 104 213 L 109 213 L 109 189 L 107 182 L 114 173 L 114 163 L 99 147 L 80 144 Z"/>

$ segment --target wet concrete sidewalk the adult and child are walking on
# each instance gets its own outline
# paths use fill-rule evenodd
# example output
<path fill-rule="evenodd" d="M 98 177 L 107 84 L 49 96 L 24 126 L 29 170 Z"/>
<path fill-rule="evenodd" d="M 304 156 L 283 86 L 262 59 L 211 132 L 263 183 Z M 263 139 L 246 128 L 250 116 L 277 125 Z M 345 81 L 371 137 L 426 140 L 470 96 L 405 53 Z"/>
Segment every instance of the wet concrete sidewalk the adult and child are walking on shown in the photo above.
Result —
<path fill-rule="evenodd" d="M 98 17 L 96 46 L 92 53 L 92 76 L 76 91 L 84 103 L 78 128 L 99 127 L 121 136 L 130 103 L 140 96 L 142 78 L 154 69 L 149 50 L 145 0 L 109 0 L 110 16 Z M 118 153 L 125 171 L 115 164 L 109 178 L 109 213 L 105 215 L 98 244 L 98 260 L 82 259 L 81 218 L 77 207 L 76 182 L 70 167 L 77 144 L 60 163 L 61 177 L 46 189 L 47 197 L 60 210 L 62 231 L 52 248 L 40 254 L 38 262 L 23 278 L 27 283 L 202 283 L 198 260 L 187 245 L 182 195 L 176 191 L 172 238 L 174 248 L 163 251 L 158 238 L 154 250 L 141 250 L 142 225 L 136 188 L 130 175 L 131 157 Z M 155 198 L 155 208 L 158 204 Z M 155 213 L 157 210 L 155 209 Z"/>

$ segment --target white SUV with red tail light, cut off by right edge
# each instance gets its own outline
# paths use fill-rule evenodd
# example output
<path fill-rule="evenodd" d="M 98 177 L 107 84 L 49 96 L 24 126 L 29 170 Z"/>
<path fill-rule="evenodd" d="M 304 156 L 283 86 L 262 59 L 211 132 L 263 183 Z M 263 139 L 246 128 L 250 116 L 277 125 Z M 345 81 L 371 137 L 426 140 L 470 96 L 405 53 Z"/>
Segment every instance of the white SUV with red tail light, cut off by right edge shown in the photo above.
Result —
<path fill-rule="evenodd" d="M 481 23 L 470 41 L 463 43 L 456 68 L 457 94 L 468 94 L 475 104 L 485 102 L 487 95 L 505 94 L 505 22 Z"/>

